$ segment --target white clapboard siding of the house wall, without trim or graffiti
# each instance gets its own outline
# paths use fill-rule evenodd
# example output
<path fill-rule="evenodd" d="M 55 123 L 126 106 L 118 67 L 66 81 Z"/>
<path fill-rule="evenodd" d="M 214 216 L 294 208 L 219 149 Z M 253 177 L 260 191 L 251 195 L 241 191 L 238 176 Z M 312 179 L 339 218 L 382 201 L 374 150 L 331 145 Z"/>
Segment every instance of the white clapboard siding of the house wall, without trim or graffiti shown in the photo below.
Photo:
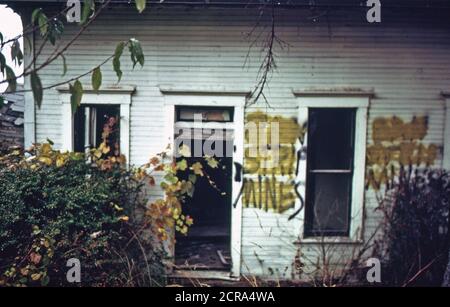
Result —
<path fill-rule="evenodd" d="M 424 142 L 442 146 L 444 103 L 440 92 L 450 89 L 450 27 L 445 20 L 398 11 L 387 11 L 381 24 L 366 23 L 365 12 L 358 10 L 351 14 L 331 11 L 328 18 L 321 17 L 317 22 L 312 21 L 309 11 L 277 14 L 277 33 L 288 45 L 275 49 L 278 67 L 266 90 L 270 107 L 260 102 L 247 112 L 262 110 L 295 117 L 298 106 L 293 89 L 369 89 L 375 93 L 369 107 L 369 143 L 374 118 L 396 115 L 410 120 L 414 115 L 428 115 L 429 130 Z M 257 44 L 249 52 L 251 39 L 246 33 L 256 19 L 257 12 L 246 9 L 166 8 L 142 14 L 132 7 L 108 10 L 67 51 L 66 76 L 61 77 L 60 60 L 40 75 L 44 86 L 68 79 L 95 67 L 113 53 L 117 42 L 138 38 L 145 66 L 131 70 L 125 51 L 121 84 L 136 86 L 131 104 L 130 161 L 142 164 L 166 145 L 161 141 L 165 119 L 159 86 L 254 88 L 261 46 Z M 66 32 L 73 35 L 75 30 L 68 27 Z M 44 49 L 42 57 L 50 52 Z M 247 52 L 249 59 L 243 67 Z M 116 83 L 110 63 L 102 72 L 103 85 Z M 89 78 L 83 78 L 83 84 L 89 84 Z M 61 111 L 58 92 L 46 91 L 43 106 L 36 112 L 37 141 L 50 138 L 61 146 Z M 152 193 L 160 194 L 156 190 Z M 373 193 L 367 192 L 366 237 L 379 224 L 376 205 Z M 301 229 L 298 219 L 287 221 L 292 212 L 243 210 L 242 273 L 293 277 L 293 262 L 299 250 L 302 261 L 310 269 L 314 267 L 320 251 L 314 244 L 294 244 Z M 346 263 L 352 248 L 351 244 L 336 247 L 335 254 L 341 257 L 334 263 Z"/>

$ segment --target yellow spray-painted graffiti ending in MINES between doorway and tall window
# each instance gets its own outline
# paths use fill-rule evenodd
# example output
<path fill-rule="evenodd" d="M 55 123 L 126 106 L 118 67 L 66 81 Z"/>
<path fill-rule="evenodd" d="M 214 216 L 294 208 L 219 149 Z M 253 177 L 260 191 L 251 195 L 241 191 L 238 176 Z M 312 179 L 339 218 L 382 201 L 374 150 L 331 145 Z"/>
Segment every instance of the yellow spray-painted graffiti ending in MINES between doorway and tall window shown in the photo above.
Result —
<path fill-rule="evenodd" d="M 244 174 L 251 178 L 244 179 L 242 201 L 247 208 L 258 208 L 261 210 L 274 210 L 284 212 L 292 208 L 295 204 L 295 171 L 297 165 L 297 153 L 295 143 L 299 140 L 304 142 L 306 134 L 306 124 L 299 125 L 297 119 L 283 116 L 272 116 L 261 111 L 251 112 L 246 115 L 246 124 L 258 127 L 258 137 L 249 136 L 249 130 L 245 132 L 245 152 L 244 152 Z M 261 126 L 260 123 L 268 124 Z M 275 167 L 267 168 L 272 157 L 259 154 L 259 144 L 251 142 L 259 141 L 259 134 L 267 135 L 267 144 L 272 146 L 271 133 L 272 124 L 278 123 L 279 128 L 279 151 L 278 164 Z M 260 131 L 264 127 L 265 131 Z M 257 152 L 256 156 L 251 156 L 250 151 Z M 280 178 L 280 176 L 284 176 Z M 287 179 L 286 179 L 287 178 Z"/>

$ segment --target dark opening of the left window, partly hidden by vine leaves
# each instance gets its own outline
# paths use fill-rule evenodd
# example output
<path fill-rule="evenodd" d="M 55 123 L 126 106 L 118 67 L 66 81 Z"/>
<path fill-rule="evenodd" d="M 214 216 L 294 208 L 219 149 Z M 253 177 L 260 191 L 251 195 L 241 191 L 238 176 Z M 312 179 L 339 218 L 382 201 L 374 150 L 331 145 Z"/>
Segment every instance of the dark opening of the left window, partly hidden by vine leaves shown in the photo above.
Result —
<path fill-rule="evenodd" d="M 112 145 L 114 152 L 118 155 L 120 148 L 120 108 L 119 106 L 83 105 L 78 108 L 74 115 L 74 150 L 76 152 L 86 152 L 91 148 L 96 148 L 103 141 L 105 129 L 109 134 L 108 144 Z"/>

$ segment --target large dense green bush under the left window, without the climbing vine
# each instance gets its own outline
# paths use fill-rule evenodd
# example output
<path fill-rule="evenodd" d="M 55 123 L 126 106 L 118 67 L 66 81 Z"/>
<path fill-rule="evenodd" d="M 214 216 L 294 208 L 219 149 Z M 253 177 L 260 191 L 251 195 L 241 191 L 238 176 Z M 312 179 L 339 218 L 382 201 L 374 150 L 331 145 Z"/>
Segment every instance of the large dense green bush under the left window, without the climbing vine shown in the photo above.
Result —
<path fill-rule="evenodd" d="M 36 151 L 32 162 L 18 152 L 0 159 L 0 284 L 71 286 L 70 258 L 80 260 L 83 286 L 164 283 L 132 174 L 49 144 Z"/>

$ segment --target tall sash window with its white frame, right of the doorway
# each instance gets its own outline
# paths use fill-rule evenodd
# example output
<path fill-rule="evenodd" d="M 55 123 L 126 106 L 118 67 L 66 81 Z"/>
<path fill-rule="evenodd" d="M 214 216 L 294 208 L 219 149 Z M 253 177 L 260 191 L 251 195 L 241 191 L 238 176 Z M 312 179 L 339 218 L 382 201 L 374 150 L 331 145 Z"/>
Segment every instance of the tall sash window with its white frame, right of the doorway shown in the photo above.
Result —
<path fill-rule="evenodd" d="M 360 243 L 364 235 L 367 109 L 372 91 L 294 90 L 298 122 L 308 125 L 299 148 L 298 215 L 302 243 Z M 296 206 L 301 206 L 299 201 Z"/>

